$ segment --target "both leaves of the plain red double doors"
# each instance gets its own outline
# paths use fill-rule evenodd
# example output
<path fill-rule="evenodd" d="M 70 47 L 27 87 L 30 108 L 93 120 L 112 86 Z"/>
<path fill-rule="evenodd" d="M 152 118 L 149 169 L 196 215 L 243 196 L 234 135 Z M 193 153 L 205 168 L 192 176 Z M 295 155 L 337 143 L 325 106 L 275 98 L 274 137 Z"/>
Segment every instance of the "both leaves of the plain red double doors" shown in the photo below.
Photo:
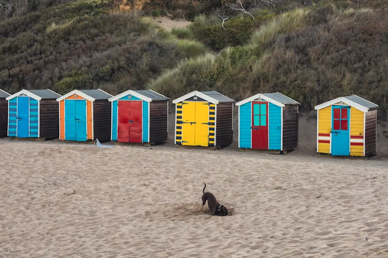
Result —
<path fill-rule="evenodd" d="M 118 142 L 142 142 L 142 102 L 118 102 Z"/>

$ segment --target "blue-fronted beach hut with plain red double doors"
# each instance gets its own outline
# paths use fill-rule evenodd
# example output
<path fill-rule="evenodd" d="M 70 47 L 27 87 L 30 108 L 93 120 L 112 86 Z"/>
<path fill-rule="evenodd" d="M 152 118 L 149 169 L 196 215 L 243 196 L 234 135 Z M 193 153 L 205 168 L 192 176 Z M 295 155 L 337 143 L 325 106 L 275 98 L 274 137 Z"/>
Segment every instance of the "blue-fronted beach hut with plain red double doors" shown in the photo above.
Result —
<path fill-rule="evenodd" d="M 168 100 L 152 90 L 129 90 L 110 98 L 111 139 L 117 142 L 164 143 L 168 135 Z"/>

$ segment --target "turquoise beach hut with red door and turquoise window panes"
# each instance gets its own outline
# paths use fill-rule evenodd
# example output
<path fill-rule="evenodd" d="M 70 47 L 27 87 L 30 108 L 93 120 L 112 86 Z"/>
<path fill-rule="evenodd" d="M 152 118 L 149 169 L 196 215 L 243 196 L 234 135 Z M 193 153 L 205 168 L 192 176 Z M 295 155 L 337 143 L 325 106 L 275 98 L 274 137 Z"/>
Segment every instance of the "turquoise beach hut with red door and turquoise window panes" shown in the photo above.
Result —
<path fill-rule="evenodd" d="M 285 152 L 298 145 L 300 103 L 281 94 L 259 93 L 239 106 L 239 148 Z"/>

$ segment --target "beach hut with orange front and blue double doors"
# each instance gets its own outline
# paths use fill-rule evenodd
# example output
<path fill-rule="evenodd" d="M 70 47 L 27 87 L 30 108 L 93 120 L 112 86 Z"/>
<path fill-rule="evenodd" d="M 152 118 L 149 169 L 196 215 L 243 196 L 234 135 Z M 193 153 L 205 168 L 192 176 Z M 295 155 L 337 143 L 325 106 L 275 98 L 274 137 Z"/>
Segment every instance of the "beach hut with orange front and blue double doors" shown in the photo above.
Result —
<path fill-rule="evenodd" d="M 60 139 L 99 141 L 111 139 L 111 94 L 97 90 L 74 90 L 57 99 Z M 57 104 L 58 105 L 58 104 Z"/>

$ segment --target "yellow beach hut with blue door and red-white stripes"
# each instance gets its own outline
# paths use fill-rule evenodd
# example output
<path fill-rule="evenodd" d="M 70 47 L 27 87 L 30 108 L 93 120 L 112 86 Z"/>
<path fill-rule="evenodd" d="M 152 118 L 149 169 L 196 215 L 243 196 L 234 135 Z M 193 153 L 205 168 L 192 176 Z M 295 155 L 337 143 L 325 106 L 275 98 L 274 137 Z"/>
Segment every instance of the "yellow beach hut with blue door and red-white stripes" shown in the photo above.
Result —
<path fill-rule="evenodd" d="M 315 106 L 317 152 L 333 156 L 371 156 L 376 152 L 378 105 L 356 95 Z"/>

